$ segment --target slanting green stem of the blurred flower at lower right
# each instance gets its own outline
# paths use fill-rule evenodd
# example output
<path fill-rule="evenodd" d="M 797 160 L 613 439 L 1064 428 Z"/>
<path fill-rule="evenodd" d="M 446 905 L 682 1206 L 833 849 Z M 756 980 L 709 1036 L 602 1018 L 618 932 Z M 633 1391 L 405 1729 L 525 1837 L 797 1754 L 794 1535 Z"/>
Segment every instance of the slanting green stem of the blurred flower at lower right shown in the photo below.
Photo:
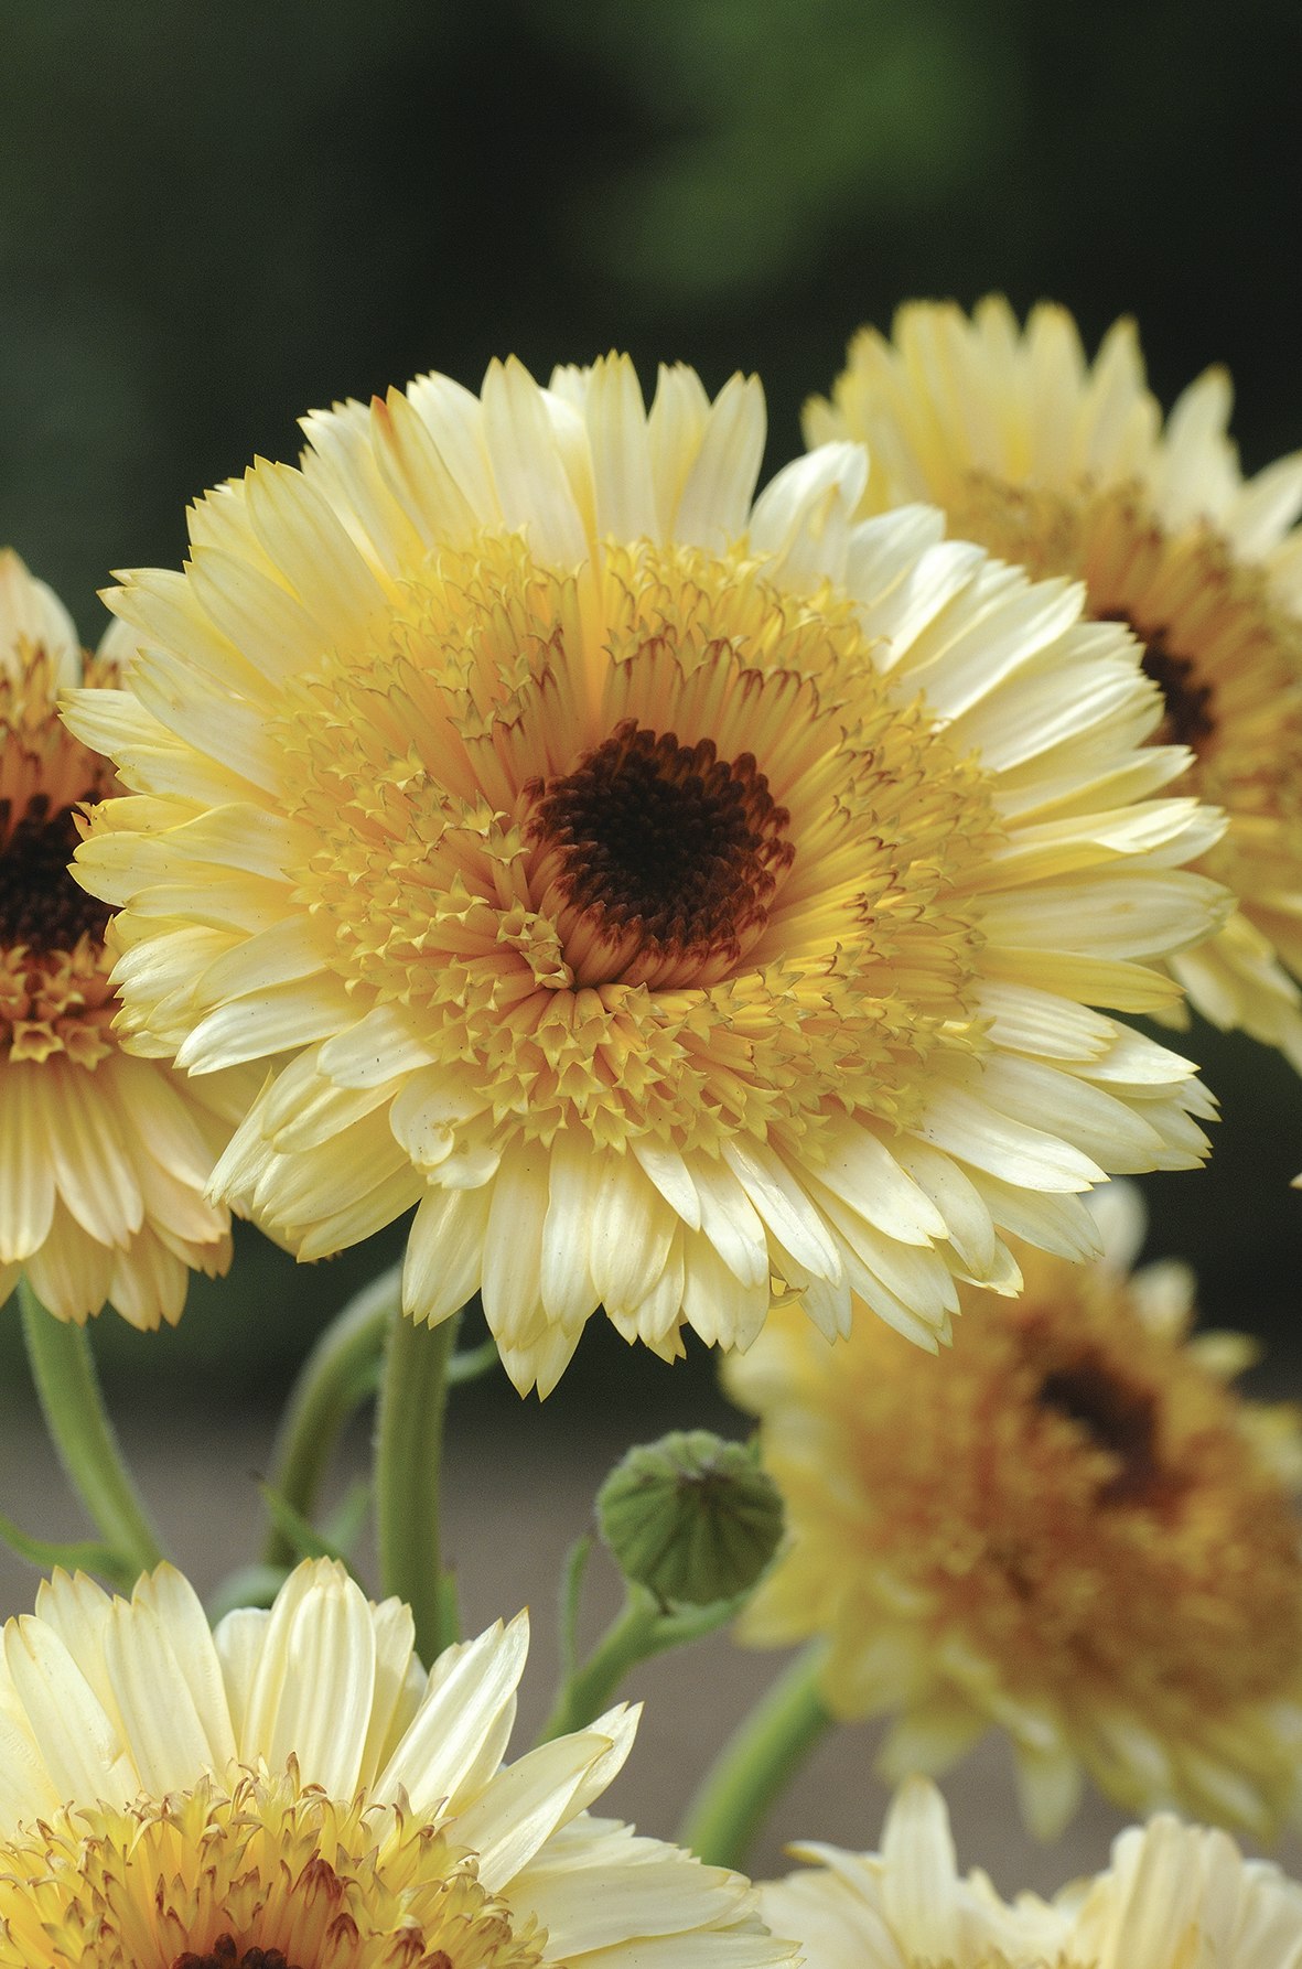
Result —
<path fill-rule="evenodd" d="M 745 1869 L 770 1808 L 831 1727 L 817 1693 L 821 1666 L 819 1644 L 798 1656 L 705 1774 L 678 1837 L 711 1867 Z"/>

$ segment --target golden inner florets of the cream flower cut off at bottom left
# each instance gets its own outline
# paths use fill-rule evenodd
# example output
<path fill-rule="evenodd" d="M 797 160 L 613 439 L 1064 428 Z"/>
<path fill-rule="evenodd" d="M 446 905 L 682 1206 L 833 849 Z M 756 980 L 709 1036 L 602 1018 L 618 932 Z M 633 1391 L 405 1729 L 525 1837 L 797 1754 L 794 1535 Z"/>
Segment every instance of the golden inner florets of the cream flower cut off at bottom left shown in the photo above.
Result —
<path fill-rule="evenodd" d="M 433 1825 L 244 1772 L 0 1845 L 4 1969 L 536 1969 Z"/>

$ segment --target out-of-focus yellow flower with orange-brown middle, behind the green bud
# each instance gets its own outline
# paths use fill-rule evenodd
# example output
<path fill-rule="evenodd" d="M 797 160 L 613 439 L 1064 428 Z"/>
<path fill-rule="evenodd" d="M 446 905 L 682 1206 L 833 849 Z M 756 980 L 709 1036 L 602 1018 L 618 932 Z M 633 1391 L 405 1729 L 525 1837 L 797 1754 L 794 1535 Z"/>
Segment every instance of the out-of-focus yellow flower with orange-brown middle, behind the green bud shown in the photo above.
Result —
<path fill-rule="evenodd" d="M 1186 1337 L 1182 1266 L 1127 1276 L 1127 1191 L 1105 1260 L 1026 1252 L 940 1363 L 790 1313 L 729 1363 L 792 1532 L 741 1632 L 825 1638 L 827 1707 L 894 1719 L 888 1776 L 1005 1729 L 1042 1837 L 1083 1772 L 1269 1835 L 1302 1808 L 1302 1435 L 1229 1388 L 1245 1341 Z"/>

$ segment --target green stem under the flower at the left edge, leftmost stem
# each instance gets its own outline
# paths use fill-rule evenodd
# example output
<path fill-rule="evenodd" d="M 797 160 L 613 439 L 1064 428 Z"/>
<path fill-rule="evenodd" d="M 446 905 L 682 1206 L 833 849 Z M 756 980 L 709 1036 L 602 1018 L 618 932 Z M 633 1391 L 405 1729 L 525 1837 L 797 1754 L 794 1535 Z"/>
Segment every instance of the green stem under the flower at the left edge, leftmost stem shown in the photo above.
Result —
<path fill-rule="evenodd" d="M 47 1313 L 26 1272 L 18 1280 L 18 1305 L 32 1378 L 63 1473 L 122 1563 L 148 1573 L 163 1548 L 122 1461 L 85 1327 Z"/>

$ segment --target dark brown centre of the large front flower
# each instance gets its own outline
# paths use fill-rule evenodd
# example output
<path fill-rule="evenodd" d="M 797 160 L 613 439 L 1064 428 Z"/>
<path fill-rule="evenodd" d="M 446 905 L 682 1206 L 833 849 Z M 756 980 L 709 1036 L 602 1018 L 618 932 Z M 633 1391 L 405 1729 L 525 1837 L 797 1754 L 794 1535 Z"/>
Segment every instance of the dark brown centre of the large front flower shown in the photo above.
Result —
<path fill-rule="evenodd" d="M 796 858 L 790 815 L 750 752 L 682 744 L 624 719 L 573 772 L 540 784 L 536 876 L 565 920 L 585 984 L 705 983 L 731 969 L 768 920 Z"/>

